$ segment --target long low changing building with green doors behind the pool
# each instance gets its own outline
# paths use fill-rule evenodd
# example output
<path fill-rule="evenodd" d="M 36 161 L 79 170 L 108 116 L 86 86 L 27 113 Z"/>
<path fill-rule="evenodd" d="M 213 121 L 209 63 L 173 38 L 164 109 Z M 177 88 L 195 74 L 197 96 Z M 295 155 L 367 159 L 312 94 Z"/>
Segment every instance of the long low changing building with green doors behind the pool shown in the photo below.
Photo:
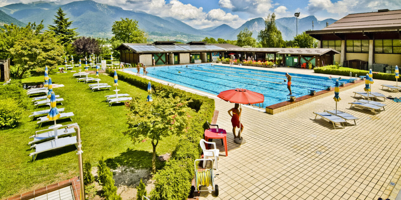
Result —
<path fill-rule="evenodd" d="M 232 44 L 207 44 L 188 42 L 175 44 L 174 41 L 158 41 L 152 44 L 123 43 L 115 50 L 120 51 L 120 62 L 142 63 L 147 66 L 168 64 L 190 64 L 217 61 L 217 58 L 239 60 L 277 60 L 284 66 L 301 66 L 310 62 L 312 67 L 334 63 L 338 51 L 331 48 L 242 48 Z M 230 55 L 229 55 L 230 54 Z"/>

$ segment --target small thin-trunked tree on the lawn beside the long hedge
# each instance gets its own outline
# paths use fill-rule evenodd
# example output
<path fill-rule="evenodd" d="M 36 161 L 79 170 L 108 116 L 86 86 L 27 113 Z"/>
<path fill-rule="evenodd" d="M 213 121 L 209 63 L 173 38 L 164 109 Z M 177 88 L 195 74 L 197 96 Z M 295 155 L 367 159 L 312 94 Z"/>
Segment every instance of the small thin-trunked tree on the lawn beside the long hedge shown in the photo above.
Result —
<path fill-rule="evenodd" d="M 127 104 L 128 131 L 125 133 L 134 142 L 148 138 L 152 142 L 152 173 L 156 172 L 156 146 L 164 137 L 186 132 L 190 108 L 189 101 L 173 98 L 156 97 L 152 102 L 146 102 L 140 97 Z"/>

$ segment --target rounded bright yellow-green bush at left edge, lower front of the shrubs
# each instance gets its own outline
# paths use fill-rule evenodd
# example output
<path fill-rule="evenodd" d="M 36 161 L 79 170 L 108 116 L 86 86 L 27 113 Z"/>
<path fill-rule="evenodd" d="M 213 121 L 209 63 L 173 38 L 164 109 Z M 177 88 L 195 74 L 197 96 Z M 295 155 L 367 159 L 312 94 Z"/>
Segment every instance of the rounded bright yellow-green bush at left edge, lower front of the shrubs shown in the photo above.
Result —
<path fill-rule="evenodd" d="M 18 102 L 12 98 L 0 99 L 0 127 L 12 128 L 17 126 L 21 121 L 22 108 Z"/>

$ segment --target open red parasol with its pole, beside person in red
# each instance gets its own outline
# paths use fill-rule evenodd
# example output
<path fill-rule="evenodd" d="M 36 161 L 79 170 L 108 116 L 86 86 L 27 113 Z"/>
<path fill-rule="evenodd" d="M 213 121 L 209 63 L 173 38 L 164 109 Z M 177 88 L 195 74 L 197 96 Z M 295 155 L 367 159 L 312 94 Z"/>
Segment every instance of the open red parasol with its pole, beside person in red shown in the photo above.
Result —
<path fill-rule="evenodd" d="M 246 90 L 243 88 L 220 92 L 217 97 L 230 103 L 237 103 L 239 104 L 240 108 L 241 104 L 257 104 L 265 101 L 265 96 L 263 96 L 263 94 L 252 92 L 251 90 Z M 241 124 L 241 117 L 239 117 L 239 124 Z M 239 128 L 241 129 L 241 126 Z M 241 132 L 238 137 L 241 138 Z"/>

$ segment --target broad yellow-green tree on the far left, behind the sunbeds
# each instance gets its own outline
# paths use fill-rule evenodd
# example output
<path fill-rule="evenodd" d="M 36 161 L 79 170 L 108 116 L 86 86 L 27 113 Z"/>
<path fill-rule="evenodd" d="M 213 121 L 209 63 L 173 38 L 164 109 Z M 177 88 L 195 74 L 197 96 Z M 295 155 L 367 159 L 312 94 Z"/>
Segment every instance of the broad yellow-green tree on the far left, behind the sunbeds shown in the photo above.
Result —
<path fill-rule="evenodd" d="M 10 54 L 14 57 L 14 64 L 18 66 L 18 78 L 22 78 L 28 70 L 40 71 L 45 66 L 53 69 L 57 63 L 61 63 L 64 48 L 57 42 L 54 33 L 49 31 L 27 35 L 26 38 L 16 41 Z"/>

